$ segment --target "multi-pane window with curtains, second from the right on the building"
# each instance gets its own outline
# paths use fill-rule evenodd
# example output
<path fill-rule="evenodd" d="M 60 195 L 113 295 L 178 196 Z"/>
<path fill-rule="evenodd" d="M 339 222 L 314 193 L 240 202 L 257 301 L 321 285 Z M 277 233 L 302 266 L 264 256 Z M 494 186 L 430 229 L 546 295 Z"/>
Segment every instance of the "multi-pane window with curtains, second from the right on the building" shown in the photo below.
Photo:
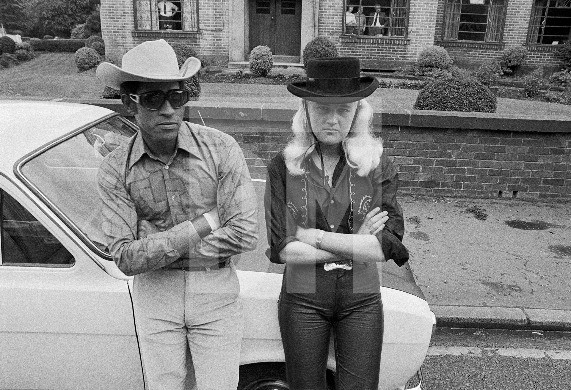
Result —
<path fill-rule="evenodd" d="M 443 39 L 501 42 L 507 0 L 446 0 Z"/>

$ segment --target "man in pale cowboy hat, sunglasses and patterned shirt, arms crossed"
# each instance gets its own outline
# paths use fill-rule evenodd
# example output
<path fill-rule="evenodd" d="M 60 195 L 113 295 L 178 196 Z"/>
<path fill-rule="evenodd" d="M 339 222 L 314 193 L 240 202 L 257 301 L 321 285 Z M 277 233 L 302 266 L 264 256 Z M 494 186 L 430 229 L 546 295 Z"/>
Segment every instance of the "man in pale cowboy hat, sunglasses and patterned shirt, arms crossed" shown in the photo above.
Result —
<path fill-rule="evenodd" d="M 160 39 L 96 72 L 140 129 L 103 160 L 98 186 L 109 252 L 134 275 L 151 390 L 184 388 L 189 347 L 198 390 L 238 385 L 243 313 L 231 256 L 256 247 L 258 203 L 234 138 L 182 120 L 182 82 L 199 69 L 191 57 L 179 70 Z"/>

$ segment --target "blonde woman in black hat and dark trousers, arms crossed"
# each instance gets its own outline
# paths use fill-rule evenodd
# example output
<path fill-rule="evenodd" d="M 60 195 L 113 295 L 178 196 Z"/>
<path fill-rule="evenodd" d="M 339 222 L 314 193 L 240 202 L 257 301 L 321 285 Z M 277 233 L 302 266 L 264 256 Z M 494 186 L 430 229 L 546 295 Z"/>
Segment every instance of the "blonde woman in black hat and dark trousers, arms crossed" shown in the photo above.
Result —
<path fill-rule="evenodd" d="M 292 390 L 325 390 L 333 331 L 337 389 L 377 389 L 383 344 L 380 263 L 408 260 L 397 172 L 363 98 L 378 86 L 356 58 L 307 63 L 293 139 L 268 166 L 266 224 L 286 263 L 279 323 Z"/>

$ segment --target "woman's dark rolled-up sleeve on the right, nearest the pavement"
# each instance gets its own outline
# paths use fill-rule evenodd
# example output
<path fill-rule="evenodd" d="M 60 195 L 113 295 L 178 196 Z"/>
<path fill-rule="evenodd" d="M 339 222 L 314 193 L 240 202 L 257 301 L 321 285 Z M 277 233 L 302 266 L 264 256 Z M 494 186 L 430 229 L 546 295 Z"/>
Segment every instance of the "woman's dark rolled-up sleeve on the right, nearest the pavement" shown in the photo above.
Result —
<path fill-rule="evenodd" d="M 387 260 L 395 260 L 397 266 L 402 266 L 409 259 L 407 247 L 403 244 L 404 216 L 403 209 L 396 199 L 399 189 L 399 173 L 386 155 L 381 156 L 379 167 L 373 171 L 373 201 L 372 208 L 380 207 L 387 211 L 389 219 L 382 231 L 377 233 L 377 239 L 383 248 Z"/>

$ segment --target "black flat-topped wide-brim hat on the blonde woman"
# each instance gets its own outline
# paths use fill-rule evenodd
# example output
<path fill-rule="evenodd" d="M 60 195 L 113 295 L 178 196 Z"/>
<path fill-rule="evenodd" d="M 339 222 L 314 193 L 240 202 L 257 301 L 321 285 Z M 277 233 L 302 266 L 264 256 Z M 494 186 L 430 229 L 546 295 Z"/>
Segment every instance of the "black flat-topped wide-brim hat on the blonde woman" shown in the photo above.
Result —
<path fill-rule="evenodd" d="M 289 83 L 287 90 L 313 102 L 356 102 L 368 97 L 379 87 L 375 77 L 361 77 L 359 59 L 355 57 L 309 59 L 305 73 L 305 81 Z"/>

